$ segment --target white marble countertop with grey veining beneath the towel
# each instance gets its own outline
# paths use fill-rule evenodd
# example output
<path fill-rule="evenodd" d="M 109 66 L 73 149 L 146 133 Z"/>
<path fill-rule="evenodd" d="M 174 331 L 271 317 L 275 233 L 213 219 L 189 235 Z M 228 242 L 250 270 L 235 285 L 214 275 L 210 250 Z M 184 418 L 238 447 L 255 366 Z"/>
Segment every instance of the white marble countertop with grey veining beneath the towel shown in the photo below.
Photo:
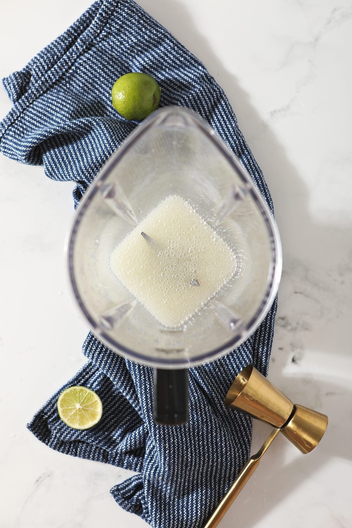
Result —
<path fill-rule="evenodd" d="M 224 88 L 268 182 L 283 245 L 270 379 L 329 416 L 302 456 L 278 437 L 222 528 L 352 526 L 350 0 L 140 0 Z M 12 0 L 0 75 L 21 69 L 89 0 Z M 0 91 L 0 116 L 11 105 Z M 131 472 L 64 456 L 25 428 L 84 363 L 66 279 L 73 185 L 0 157 L 0 528 L 146 526 L 109 489 Z M 269 428 L 256 422 L 253 450 Z"/>

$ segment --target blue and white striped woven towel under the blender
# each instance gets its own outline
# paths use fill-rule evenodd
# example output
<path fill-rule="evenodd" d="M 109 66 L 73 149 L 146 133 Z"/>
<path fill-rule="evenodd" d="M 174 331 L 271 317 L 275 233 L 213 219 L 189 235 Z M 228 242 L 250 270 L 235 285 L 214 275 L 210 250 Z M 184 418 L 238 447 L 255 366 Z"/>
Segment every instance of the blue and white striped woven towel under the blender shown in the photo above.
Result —
<path fill-rule="evenodd" d="M 58 181 L 75 181 L 78 204 L 108 157 L 137 124 L 111 105 L 113 82 L 141 71 L 161 86 L 161 106 L 192 108 L 240 158 L 272 209 L 267 185 L 224 92 L 204 65 L 132 0 L 98 0 L 21 71 L 3 80 L 13 108 L 0 124 L 0 149 L 44 165 Z M 153 421 L 149 367 L 111 352 L 89 334 L 88 362 L 28 424 L 44 444 L 66 454 L 132 469 L 111 489 L 117 503 L 154 528 L 198 528 L 249 457 L 251 419 L 224 407 L 239 371 L 253 363 L 267 374 L 276 304 L 254 334 L 225 357 L 189 371 L 189 422 Z M 97 426 L 67 427 L 56 400 L 70 385 L 96 391 Z"/>

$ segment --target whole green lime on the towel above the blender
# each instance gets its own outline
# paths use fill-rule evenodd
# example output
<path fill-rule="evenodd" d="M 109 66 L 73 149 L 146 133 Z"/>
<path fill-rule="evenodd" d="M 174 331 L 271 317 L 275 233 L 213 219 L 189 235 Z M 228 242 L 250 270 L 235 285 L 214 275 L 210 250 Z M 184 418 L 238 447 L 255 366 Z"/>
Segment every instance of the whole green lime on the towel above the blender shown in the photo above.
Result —
<path fill-rule="evenodd" d="M 147 73 L 126 73 L 113 85 L 111 98 L 121 116 L 140 121 L 158 108 L 160 87 Z"/>

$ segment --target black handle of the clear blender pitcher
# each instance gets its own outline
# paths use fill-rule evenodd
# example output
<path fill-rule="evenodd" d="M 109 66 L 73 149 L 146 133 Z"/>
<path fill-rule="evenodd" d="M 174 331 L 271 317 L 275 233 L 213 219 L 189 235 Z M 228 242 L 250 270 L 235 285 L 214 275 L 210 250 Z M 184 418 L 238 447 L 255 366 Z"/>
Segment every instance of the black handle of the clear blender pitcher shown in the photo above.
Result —
<path fill-rule="evenodd" d="M 189 418 L 188 369 L 154 369 L 154 419 L 179 426 Z"/>

